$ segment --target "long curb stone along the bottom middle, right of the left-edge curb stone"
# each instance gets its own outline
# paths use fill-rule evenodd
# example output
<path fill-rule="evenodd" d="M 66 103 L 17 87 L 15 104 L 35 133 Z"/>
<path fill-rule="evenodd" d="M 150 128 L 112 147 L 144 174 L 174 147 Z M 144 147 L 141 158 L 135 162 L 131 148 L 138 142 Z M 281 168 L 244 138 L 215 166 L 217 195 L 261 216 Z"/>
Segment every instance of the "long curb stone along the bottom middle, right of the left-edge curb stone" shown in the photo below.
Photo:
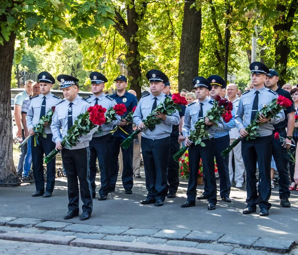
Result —
<path fill-rule="evenodd" d="M 127 251 L 135 253 L 167 254 L 167 255 L 227 255 L 227 253 L 187 247 L 172 247 L 167 245 L 149 245 L 144 243 L 127 243 L 118 241 L 101 241 L 88 239 L 75 239 L 72 246 Z"/>

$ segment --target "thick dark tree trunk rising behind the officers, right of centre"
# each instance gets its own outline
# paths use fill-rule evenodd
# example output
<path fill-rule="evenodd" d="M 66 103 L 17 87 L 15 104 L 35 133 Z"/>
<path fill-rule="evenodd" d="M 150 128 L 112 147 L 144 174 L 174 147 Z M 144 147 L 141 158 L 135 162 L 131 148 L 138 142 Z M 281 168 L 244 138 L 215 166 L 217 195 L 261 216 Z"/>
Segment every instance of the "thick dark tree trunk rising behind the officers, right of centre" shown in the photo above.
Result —
<path fill-rule="evenodd" d="M 195 0 L 185 1 L 180 45 L 178 90 L 182 88 L 191 91 L 192 81 L 198 76 L 200 39 L 202 29 L 201 8 L 190 8 Z"/>

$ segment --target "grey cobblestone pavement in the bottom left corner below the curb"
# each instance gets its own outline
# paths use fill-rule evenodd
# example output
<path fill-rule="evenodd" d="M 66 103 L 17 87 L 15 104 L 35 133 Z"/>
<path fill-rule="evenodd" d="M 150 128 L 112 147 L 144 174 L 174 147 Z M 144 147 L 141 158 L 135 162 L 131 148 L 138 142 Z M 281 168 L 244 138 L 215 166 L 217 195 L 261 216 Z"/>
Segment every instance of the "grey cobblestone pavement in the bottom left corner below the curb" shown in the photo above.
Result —
<path fill-rule="evenodd" d="M 13 255 L 145 255 L 142 253 L 130 253 L 110 251 L 103 249 L 90 249 L 85 247 L 73 247 L 67 245 L 38 244 L 29 242 L 17 242 L 0 240 L 0 254 Z"/>

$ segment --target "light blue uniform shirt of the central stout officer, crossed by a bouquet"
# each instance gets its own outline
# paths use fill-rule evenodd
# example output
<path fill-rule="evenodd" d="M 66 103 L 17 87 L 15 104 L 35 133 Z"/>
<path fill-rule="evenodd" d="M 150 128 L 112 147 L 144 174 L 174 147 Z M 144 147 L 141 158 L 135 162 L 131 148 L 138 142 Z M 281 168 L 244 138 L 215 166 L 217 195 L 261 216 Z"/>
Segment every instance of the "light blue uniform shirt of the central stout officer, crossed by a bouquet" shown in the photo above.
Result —
<path fill-rule="evenodd" d="M 139 126 L 149 113 L 151 113 L 154 97 L 157 97 L 156 103 L 158 105 L 160 102 L 163 102 L 165 96 L 166 94 L 163 92 L 158 96 L 152 94 L 142 96 L 133 115 L 134 123 Z M 142 131 L 142 136 L 152 140 L 169 137 L 172 133 L 172 125 L 179 125 L 179 123 L 180 117 L 176 110 L 171 116 L 166 116 L 165 120 L 161 120 L 160 124 L 155 125 L 155 128 L 152 131 L 150 131 L 149 128 Z"/>

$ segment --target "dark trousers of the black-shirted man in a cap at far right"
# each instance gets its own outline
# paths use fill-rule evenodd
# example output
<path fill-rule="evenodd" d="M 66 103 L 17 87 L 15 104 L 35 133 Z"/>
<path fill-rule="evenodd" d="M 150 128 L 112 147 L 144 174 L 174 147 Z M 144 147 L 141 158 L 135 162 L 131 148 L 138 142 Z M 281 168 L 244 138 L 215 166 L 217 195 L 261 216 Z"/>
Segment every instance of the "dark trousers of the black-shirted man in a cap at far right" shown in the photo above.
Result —
<path fill-rule="evenodd" d="M 286 130 L 279 132 L 280 137 L 286 137 Z M 288 149 L 282 146 L 282 142 L 279 139 L 273 139 L 273 158 L 278 171 L 278 186 L 280 198 L 289 198 L 289 173 L 288 173 L 288 163 L 290 160 Z"/>

